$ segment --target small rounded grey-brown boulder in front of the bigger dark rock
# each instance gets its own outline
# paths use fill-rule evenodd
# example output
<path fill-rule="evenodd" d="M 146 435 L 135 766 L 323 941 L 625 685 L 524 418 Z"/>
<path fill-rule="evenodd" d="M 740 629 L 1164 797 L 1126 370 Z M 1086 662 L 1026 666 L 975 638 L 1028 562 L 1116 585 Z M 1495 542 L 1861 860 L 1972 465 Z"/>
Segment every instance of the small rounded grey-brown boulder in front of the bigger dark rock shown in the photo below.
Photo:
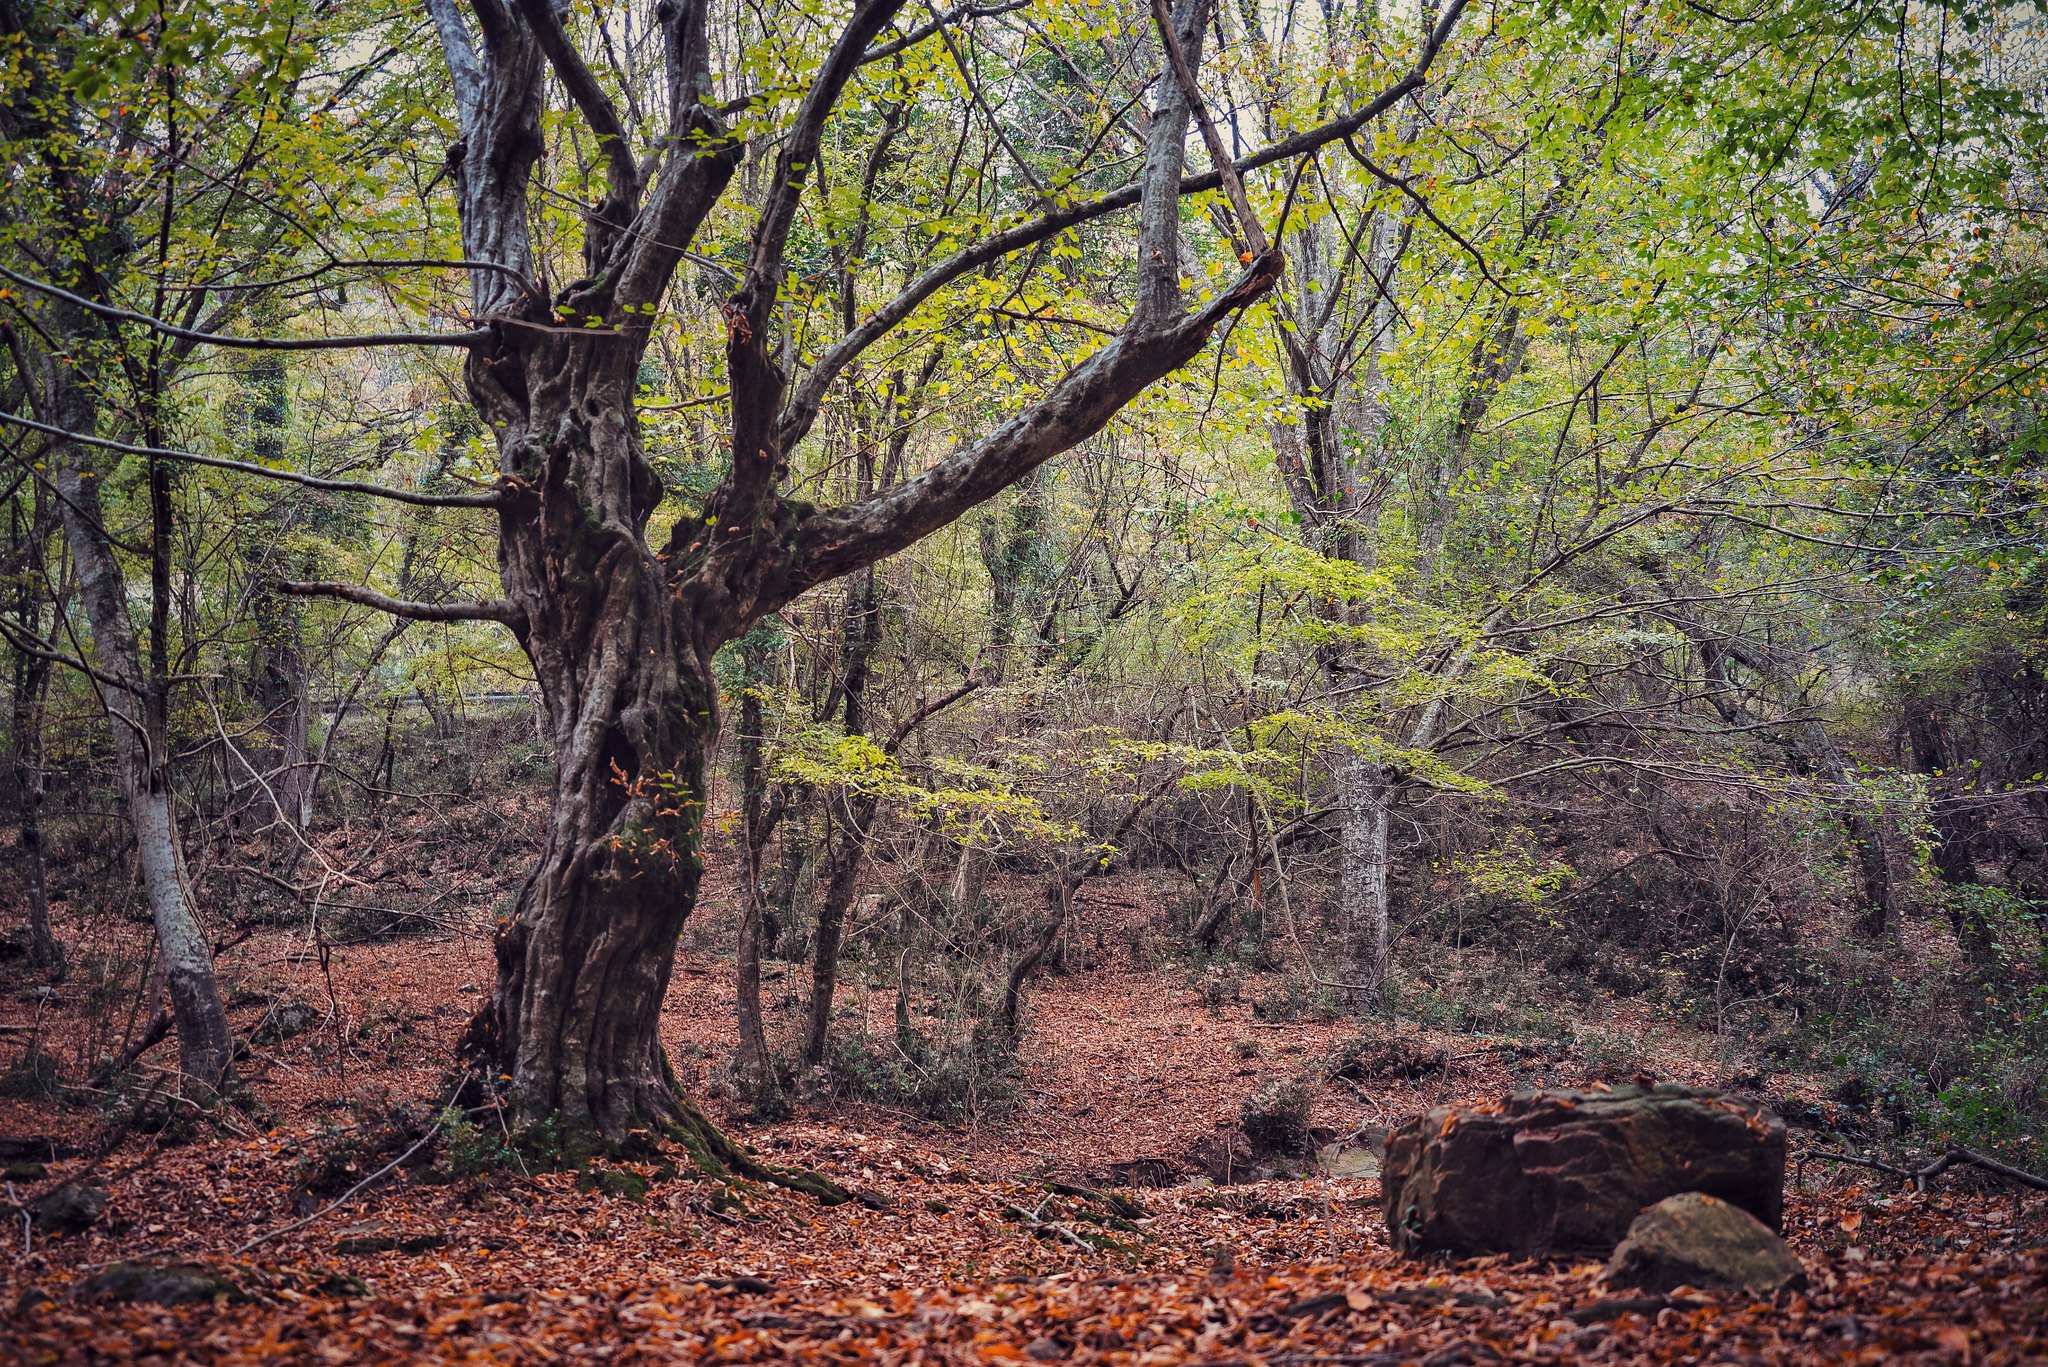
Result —
<path fill-rule="evenodd" d="M 1688 1191 L 1636 1215 L 1608 1260 L 1608 1283 L 1642 1291 L 1700 1287 L 1772 1295 L 1806 1285 L 1806 1269 L 1749 1211 Z"/>

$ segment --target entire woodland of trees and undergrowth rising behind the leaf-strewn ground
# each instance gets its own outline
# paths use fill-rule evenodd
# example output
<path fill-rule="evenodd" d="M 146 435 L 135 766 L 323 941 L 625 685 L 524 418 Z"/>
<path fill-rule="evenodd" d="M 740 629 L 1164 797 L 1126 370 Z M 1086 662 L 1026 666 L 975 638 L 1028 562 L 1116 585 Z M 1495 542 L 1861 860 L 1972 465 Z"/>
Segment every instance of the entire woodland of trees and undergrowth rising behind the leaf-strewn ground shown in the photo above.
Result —
<path fill-rule="evenodd" d="M 211 947 L 496 914 L 467 1064 L 692 1127 L 688 922 L 754 1105 L 956 1111 L 1147 869 L 1130 953 L 1284 969 L 1276 1014 L 1620 994 L 1733 1078 L 2042 1144 L 2036 14 L 0 41 L 4 908 L 119 1004 L 61 1068 L 174 1033 L 231 1088 Z M 152 963 L 106 953 L 139 908 Z"/>

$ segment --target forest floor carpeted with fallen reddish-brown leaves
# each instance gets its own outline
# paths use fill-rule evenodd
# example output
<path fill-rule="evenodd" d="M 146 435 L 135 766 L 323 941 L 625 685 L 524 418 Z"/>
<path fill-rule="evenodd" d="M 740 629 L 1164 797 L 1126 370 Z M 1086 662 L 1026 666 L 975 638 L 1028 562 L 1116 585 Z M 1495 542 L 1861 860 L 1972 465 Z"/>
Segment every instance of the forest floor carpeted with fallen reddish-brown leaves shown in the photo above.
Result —
<path fill-rule="evenodd" d="M 1098 943 L 1141 892 L 1118 879 L 1090 889 Z M 840 1105 L 750 1125 L 707 1103 L 764 1158 L 817 1168 L 862 1191 L 858 1203 L 686 1176 L 631 1195 L 563 1172 L 463 1176 L 442 1144 L 432 1168 L 401 1166 L 322 1213 L 403 1152 L 410 1131 L 393 1115 L 418 1123 L 438 1105 L 489 949 L 473 933 L 410 937 L 336 949 L 324 971 L 303 937 L 250 937 L 223 961 L 238 1027 L 266 1041 L 244 1062 L 248 1111 L 109 1150 L 90 1107 L 0 1101 L 0 1135 L 57 1154 L 43 1176 L 12 1168 L 12 1201 L 80 1176 L 109 1193 L 74 1236 L 16 1217 L 0 1260 L 0 1361 L 2048 1361 L 2048 1199 L 1972 1174 L 1911 1193 L 1806 1164 L 1786 1203 L 1806 1291 L 1634 1308 L 1599 1285 L 1597 1262 L 1397 1256 L 1372 1178 L 1090 1195 L 1112 1164 L 1178 1164 L 1235 1125 L 1260 1080 L 1358 1033 L 1260 1021 L 1186 969 L 1116 957 L 1034 996 L 1022 1086 L 973 1121 Z M 799 969 L 784 974 L 770 998 Z M 893 1029 L 893 996 L 854 980 L 852 1019 Z M 84 990 L 23 982 L 0 1008 L 10 1041 L 82 1037 L 104 1010 Z M 686 955 L 666 1035 L 700 1092 L 731 1047 L 731 994 L 729 961 Z M 279 1002 L 315 1010 L 287 1023 Z M 260 1029 L 266 1014 L 289 1029 Z M 1608 1014 L 1659 1076 L 1716 1082 L 1686 1031 L 1626 1002 Z M 1317 1119 L 1350 1131 L 1444 1099 L 1591 1080 L 1583 1062 L 1516 1039 L 1403 1041 L 1434 1066 L 1325 1082 Z M 188 1306 L 88 1293 L 131 1260 L 205 1269 L 221 1293 Z"/>

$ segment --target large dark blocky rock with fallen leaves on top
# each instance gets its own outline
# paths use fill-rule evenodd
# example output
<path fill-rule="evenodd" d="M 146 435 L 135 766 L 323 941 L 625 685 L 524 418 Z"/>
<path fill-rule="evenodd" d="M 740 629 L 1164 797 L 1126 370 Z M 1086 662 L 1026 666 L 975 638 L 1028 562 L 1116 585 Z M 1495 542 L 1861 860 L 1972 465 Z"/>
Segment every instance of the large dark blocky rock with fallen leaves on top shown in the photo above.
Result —
<path fill-rule="evenodd" d="M 1436 1107 L 1389 1137 L 1380 1191 L 1403 1252 L 1604 1256 L 1681 1191 L 1776 1230 L 1784 1164 L 1776 1115 L 1663 1082 Z"/>

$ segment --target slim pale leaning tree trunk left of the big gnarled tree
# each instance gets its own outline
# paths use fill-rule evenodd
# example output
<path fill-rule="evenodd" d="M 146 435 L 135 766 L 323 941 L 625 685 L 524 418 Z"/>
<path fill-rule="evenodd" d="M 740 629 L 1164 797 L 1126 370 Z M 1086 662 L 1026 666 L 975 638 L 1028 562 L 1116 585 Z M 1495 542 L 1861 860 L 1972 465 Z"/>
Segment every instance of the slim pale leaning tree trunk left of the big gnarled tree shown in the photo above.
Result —
<path fill-rule="evenodd" d="M 49 365 L 51 410 L 70 432 L 90 432 L 96 412 L 76 377 Z M 143 676 L 135 625 L 127 607 L 127 580 L 115 557 L 100 512 L 100 480 L 88 447 L 57 443 L 51 451 L 61 504 L 63 535 L 78 570 L 78 590 L 92 623 L 92 656 L 100 670 L 100 695 L 113 726 L 115 773 L 135 851 L 143 894 L 156 922 L 164 988 L 178 1025 L 178 1068 L 195 1099 L 213 1096 L 233 1078 L 233 1035 L 213 982 L 213 953 L 193 912 L 193 892 L 184 875 L 178 822 L 170 785 L 170 754 L 150 726 L 150 685 Z"/>

